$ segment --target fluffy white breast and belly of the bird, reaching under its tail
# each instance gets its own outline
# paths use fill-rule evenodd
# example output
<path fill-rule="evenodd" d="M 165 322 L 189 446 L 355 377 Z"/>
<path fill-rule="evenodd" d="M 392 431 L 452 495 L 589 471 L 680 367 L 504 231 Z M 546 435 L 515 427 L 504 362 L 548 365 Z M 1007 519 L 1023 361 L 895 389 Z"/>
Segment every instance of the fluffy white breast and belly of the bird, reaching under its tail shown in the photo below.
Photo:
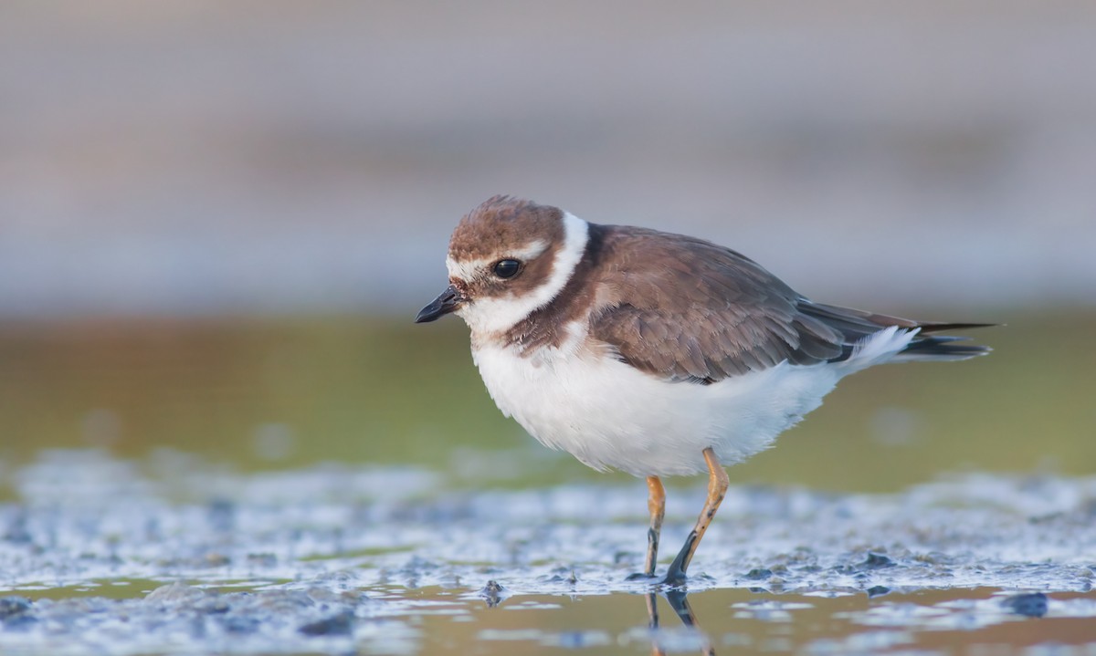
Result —
<path fill-rule="evenodd" d="M 787 362 L 701 385 L 666 382 L 624 362 L 547 348 L 520 357 L 510 347 L 473 349 L 495 404 L 545 446 L 598 469 L 637 476 L 707 470 L 712 447 L 724 465 L 773 444 L 822 403 L 845 375 L 886 361 L 911 334 L 883 331 L 863 357 L 838 364 Z"/>

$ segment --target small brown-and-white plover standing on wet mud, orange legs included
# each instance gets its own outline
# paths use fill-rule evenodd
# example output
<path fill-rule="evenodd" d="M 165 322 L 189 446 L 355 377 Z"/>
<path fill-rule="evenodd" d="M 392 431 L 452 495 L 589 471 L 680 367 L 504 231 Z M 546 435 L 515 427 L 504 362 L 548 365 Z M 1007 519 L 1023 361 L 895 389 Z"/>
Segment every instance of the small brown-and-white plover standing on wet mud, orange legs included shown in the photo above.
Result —
<path fill-rule="evenodd" d="M 460 219 L 445 264 L 448 286 L 415 323 L 460 317 L 504 415 L 595 470 L 646 479 L 647 555 L 629 578 L 671 588 L 727 494 L 726 467 L 772 446 L 845 376 L 985 355 L 940 333 L 994 325 L 814 302 L 716 243 L 504 195 Z M 700 515 L 655 577 L 662 479 L 701 473 Z"/>

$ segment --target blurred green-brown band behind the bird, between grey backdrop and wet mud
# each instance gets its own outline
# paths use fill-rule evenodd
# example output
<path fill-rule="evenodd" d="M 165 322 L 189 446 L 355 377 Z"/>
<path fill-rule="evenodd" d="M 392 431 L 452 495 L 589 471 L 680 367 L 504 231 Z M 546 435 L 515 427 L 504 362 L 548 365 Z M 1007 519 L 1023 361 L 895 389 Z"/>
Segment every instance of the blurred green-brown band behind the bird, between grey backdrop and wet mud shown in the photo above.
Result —
<path fill-rule="evenodd" d="M 1096 313 L 1006 319 L 978 335 L 990 357 L 843 381 L 732 480 L 897 491 L 940 472 L 1092 473 Z M 0 332 L 0 362 L 9 462 L 53 447 L 127 458 L 170 447 L 242 470 L 413 463 L 456 486 L 603 475 L 501 416 L 457 320 L 20 324 Z"/>

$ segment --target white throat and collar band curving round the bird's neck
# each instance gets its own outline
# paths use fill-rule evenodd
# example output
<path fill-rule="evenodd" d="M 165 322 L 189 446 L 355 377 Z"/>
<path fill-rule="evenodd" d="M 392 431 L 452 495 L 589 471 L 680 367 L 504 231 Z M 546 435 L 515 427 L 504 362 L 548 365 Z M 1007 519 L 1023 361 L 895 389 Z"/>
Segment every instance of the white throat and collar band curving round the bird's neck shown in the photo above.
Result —
<path fill-rule="evenodd" d="M 574 268 L 586 251 L 590 225 L 563 212 L 563 248 L 556 252 L 551 275 L 532 292 L 522 296 L 488 298 L 467 302 L 457 310 L 473 335 L 490 335 L 506 331 L 535 310 L 551 302 L 571 279 Z M 450 272 L 452 273 L 452 272 Z"/>

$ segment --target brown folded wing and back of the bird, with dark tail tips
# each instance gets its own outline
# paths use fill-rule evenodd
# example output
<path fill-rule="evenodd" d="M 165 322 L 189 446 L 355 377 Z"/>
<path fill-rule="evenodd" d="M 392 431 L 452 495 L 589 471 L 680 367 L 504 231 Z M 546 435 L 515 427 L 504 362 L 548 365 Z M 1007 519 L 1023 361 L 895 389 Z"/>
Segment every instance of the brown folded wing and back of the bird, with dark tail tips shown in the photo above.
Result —
<path fill-rule="evenodd" d="M 812 303 L 729 249 L 676 234 L 601 228 L 590 334 L 623 361 L 667 380 L 710 383 L 785 360 L 840 360 L 857 341 L 890 325 L 928 332 L 974 325 L 921 324 Z M 985 350 L 950 345 L 954 339 L 927 337 L 914 345 L 923 357 Z"/>

